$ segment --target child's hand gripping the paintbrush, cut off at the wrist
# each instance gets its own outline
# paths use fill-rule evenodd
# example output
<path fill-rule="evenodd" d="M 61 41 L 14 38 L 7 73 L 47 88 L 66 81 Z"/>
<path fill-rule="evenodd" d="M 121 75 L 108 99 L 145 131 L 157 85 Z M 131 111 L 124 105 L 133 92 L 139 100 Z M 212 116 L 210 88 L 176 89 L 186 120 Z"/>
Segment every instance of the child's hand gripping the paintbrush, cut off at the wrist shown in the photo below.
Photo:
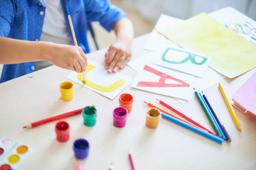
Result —
<path fill-rule="evenodd" d="M 87 57 L 81 47 L 53 44 L 48 49 L 48 61 L 63 69 L 85 72 Z"/>

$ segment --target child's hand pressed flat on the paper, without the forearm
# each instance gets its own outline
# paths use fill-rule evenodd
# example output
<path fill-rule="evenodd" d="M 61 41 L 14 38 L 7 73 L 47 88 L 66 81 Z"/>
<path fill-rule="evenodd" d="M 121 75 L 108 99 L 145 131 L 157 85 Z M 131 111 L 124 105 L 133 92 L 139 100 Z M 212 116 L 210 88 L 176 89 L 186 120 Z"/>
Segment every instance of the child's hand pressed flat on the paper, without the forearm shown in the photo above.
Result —
<path fill-rule="evenodd" d="M 105 69 L 115 73 L 123 69 L 132 57 L 132 42 L 125 38 L 116 40 L 105 54 Z"/>

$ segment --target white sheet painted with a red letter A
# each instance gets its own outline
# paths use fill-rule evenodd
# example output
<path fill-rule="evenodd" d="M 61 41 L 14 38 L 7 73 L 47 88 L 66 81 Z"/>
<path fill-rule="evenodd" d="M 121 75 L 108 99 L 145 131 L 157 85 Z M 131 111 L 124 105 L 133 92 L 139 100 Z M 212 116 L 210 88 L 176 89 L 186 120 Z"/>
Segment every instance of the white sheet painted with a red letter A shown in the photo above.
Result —
<path fill-rule="evenodd" d="M 154 64 L 146 64 L 143 68 L 137 72 L 132 87 L 188 100 L 193 76 Z"/>

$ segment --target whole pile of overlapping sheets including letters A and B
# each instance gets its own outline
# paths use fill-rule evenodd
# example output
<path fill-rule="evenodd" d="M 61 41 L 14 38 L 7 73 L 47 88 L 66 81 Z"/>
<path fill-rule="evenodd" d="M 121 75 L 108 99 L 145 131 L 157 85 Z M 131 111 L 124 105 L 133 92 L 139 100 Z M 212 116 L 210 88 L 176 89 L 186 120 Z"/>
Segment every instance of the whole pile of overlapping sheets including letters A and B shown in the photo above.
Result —
<path fill-rule="evenodd" d="M 231 7 L 186 21 L 161 15 L 145 45 L 152 52 L 128 63 L 137 71 L 132 87 L 184 103 L 194 97 L 193 87 L 204 91 L 224 77 L 238 77 L 256 67 L 255 35 L 256 22 Z M 145 65 L 176 81 L 156 76 Z M 174 86 L 139 86 L 140 81 Z M 176 86 L 178 81 L 188 86 Z"/>

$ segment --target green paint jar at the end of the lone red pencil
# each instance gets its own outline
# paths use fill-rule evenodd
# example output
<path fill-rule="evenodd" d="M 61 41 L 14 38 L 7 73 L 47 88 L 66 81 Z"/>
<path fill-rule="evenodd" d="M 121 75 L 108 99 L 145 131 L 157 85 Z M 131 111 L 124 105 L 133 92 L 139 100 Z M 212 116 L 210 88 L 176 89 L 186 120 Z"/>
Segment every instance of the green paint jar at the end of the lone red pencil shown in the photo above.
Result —
<path fill-rule="evenodd" d="M 94 126 L 96 124 L 97 110 L 94 106 L 87 106 L 82 109 L 82 117 L 86 126 Z"/>

